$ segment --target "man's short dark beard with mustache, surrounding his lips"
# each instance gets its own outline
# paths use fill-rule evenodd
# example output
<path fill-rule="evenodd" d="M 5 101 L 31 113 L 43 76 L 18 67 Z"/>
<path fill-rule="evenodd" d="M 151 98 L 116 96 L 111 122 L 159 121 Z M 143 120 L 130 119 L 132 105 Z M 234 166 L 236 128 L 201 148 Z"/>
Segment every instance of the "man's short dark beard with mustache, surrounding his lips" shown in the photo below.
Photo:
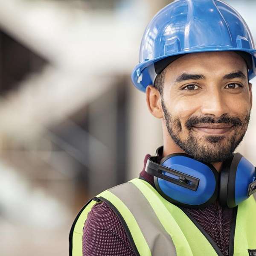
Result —
<path fill-rule="evenodd" d="M 203 163 L 222 162 L 232 157 L 233 152 L 241 143 L 247 131 L 250 113 L 245 116 L 243 122 L 238 117 L 232 117 L 228 114 L 224 114 L 218 119 L 214 119 L 212 116 L 190 116 L 185 123 L 185 127 L 189 132 L 188 136 L 186 139 L 181 140 L 179 137 L 179 133 L 182 131 L 180 119 L 173 119 L 172 115 L 167 111 L 163 98 L 161 99 L 161 103 L 166 120 L 166 127 L 172 140 L 183 149 L 186 154 Z M 232 129 L 236 132 L 229 137 L 225 135 L 200 137 L 204 139 L 204 141 L 202 141 L 194 135 L 192 126 L 205 123 L 230 124 L 233 125 Z M 226 140 L 226 142 L 224 140 Z"/>

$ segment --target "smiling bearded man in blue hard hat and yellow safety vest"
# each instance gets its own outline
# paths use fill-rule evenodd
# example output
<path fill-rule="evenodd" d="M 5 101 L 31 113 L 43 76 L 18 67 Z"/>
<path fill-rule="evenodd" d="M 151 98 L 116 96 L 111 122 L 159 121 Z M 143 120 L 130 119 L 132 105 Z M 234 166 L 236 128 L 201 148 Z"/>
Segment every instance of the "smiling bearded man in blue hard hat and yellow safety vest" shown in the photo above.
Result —
<path fill-rule="evenodd" d="M 219 0 L 177 0 L 154 16 L 132 80 L 162 120 L 163 147 L 139 179 L 81 210 L 70 255 L 256 255 L 255 167 L 233 154 L 250 119 L 254 48 Z"/>

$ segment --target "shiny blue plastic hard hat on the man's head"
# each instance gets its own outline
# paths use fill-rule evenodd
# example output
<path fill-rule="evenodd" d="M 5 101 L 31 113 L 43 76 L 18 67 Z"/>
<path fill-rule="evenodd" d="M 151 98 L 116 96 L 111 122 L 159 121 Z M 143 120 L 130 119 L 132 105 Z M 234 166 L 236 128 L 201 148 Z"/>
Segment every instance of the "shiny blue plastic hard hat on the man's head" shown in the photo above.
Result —
<path fill-rule="evenodd" d="M 140 62 L 134 67 L 131 79 L 145 92 L 160 73 L 156 66 L 161 60 L 212 51 L 244 52 L 251 63 L 248 77 L 256 76 L 253 38 L 235 9 L 221 0 L 176 0 L 161 9 L 146 27 L 140 45 Z"/>

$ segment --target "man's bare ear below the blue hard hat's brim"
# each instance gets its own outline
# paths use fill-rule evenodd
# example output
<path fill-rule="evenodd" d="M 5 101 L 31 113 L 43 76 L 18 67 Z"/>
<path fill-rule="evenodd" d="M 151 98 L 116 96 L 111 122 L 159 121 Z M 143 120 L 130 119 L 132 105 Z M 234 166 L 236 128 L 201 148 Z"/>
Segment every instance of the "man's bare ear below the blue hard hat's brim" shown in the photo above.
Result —
<path fill-rule="evenodd" d="M 152 85 L 146 87 L 146 101 L 149 112 L 156 118 L 163 118 L 161 96 L 156 87 Z"/>

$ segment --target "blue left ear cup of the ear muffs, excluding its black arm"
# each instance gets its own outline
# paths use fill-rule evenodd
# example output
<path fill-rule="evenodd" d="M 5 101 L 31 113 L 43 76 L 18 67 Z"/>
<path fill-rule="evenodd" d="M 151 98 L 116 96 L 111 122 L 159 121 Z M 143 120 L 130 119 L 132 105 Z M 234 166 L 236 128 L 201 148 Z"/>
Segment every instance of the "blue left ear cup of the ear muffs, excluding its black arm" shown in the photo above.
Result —
<path fill-rule="evenodd" d="M 214 202 L 218 196 L 218 172 L 212 165 L 198 162 L 186 154 L 171 154 L 161 160 L 163 166 L 199 178 L 197 191 L 191 191 L 169 181 L 154 177 L 157 191 L 171 203 L 201 208 Z M 164 175 L 169 176 L 168 173 Z"/>

